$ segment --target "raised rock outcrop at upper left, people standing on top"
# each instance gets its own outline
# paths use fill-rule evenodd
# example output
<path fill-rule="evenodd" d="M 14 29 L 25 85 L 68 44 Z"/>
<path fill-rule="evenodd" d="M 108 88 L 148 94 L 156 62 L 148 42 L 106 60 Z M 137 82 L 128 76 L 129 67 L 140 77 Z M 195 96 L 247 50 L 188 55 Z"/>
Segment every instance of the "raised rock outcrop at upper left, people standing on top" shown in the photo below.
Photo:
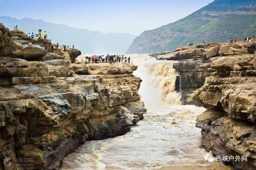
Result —
<path fill-rule="evenodd" d="M 81 54 L 81 51 L 77 49 L 68 49 L 67 52 L 61 52 L 60 49 L 53 47 L 50 40 L 31 39 L 23 31 L 9 31 L 0 23 L 0 56 L 40 61 L 53 57 L 47 55 L 47 53 L 53 52 L 65 59 L 70 59 L 70 62 L 75 62 L 75 58 Z"/>

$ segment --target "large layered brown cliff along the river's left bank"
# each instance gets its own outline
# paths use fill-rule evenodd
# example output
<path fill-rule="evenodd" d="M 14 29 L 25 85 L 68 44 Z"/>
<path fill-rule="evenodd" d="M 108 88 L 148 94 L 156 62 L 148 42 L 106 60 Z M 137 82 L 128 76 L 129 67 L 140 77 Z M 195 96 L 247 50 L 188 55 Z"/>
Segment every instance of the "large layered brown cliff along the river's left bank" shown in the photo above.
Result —
<path fill-rule="evenodd" d="M 142 120 L 136 66 L 70 63 L 47 53 L 50 42 L 1 26 L 0 169 L 59 169 L 85 141 L 125 134 Z M 12 48 L 16 41 L 22 48 Z"/>

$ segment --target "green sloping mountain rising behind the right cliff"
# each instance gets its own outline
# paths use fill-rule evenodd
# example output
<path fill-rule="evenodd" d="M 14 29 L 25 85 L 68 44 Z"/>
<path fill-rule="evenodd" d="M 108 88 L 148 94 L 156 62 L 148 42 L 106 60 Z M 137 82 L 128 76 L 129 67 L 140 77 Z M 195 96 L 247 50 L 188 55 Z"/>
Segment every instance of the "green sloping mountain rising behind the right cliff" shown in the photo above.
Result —
<path fill-rule="evenodd" d="M 256 0 L 216 0 L 193 14 L 162 27 L 144 31 L 127 53 L 173 50 L 205 41 L 242 40 L 256 34 Z"/>

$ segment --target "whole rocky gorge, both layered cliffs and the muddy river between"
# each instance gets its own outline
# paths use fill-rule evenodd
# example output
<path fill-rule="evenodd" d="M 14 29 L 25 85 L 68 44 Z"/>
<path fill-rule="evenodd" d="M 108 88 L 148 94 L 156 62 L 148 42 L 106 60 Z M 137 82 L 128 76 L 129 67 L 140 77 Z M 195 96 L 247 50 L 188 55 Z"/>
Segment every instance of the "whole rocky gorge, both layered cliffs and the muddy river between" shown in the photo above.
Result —
<path fill-rule="evenodd" d="M 92 64 L 0 24 L 0 169 L 255 169 L 255 52 L 211 42 Z"/>

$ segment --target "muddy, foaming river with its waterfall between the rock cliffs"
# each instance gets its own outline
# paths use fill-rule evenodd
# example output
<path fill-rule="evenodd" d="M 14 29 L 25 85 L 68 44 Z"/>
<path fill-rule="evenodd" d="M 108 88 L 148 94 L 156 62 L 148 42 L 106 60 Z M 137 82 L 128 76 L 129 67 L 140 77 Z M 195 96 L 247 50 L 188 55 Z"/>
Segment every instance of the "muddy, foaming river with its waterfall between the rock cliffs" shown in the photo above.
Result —
<path fill-rule="evenodd" d="M 86 142 L 65 157 L 61 169 L 231 169 L 204 159 L 195 120 L 205 108 L 180 104 L 180 94 L 172 90 L 172 63 L 147 56 L 134 62 L 139 66 L 134 74 L 143 80 L 144 120 L 125 135 Z"/>

